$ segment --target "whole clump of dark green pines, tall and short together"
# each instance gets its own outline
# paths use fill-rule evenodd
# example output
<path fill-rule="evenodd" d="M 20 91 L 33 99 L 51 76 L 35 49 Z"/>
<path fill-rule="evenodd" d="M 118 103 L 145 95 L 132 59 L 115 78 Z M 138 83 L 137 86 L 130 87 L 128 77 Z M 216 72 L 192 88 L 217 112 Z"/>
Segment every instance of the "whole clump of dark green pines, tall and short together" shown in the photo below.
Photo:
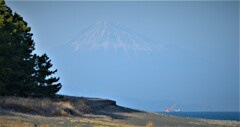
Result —
<path fill-rule="evenodd" d="M 34 54 L 31 28 L 23 18 L 0 0 L 0 95 L 54 96 L 61 89 L 59 78 L 51 77 L 51 60 Z"/>

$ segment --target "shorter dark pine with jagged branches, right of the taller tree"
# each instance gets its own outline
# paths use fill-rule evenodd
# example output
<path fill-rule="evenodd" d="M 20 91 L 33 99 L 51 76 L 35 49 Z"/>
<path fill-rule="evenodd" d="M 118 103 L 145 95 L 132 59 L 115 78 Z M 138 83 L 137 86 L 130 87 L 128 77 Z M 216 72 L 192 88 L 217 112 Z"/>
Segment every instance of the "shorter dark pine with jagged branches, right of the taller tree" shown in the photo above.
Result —
<path fill-rule="evenodd" d="M 51 71 L 51 60 L 46 54 L 37 56 L 36 60 L 36 83 L 37 83 L 37 96 L 54 96 L 56 92 L 61 89 L 61 83 L 57 83 L 59 78 L 50 77 L 57 72 L 57 69 Z"/>

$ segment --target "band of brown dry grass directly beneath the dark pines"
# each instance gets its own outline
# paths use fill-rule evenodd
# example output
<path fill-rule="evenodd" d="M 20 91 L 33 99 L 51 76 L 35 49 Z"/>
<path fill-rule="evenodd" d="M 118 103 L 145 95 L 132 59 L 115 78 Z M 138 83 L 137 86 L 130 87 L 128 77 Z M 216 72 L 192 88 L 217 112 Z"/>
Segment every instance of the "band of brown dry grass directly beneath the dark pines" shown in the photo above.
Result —
<path fill-rule="evenodd" d="M 90 107 L 84 100 L 0 97 L 0 109 L 44 116 L 81 116 Z"/>

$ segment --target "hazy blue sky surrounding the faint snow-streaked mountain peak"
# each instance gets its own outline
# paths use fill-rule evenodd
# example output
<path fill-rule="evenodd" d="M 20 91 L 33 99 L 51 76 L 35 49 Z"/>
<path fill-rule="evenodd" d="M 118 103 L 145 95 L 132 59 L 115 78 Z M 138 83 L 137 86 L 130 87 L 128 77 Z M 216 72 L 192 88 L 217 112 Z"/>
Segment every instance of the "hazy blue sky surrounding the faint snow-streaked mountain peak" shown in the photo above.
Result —
<path fill-rule="evenodd" d="M 58 69 L 61 94 L 159 111 L 239 110 L 239 2 L 8 1 L 29 23 L 37 53 Z M 74 52 L 70 40 L 113 21 L 167 47 L 124 54 Z M 65 55 L 63 55 L 65 54 Z"/>

